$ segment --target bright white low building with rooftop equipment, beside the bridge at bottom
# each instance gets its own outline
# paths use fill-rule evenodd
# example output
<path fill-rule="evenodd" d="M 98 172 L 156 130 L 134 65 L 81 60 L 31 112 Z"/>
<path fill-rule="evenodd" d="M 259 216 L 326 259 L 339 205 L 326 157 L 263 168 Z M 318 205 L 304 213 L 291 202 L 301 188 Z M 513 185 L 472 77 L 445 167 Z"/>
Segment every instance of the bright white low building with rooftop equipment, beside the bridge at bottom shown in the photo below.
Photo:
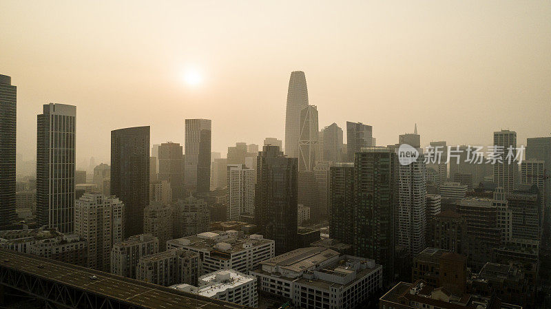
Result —
<path fill-rule="evenodd" d="M 190 292 L 212 299 L 220 299 L 251 308 L 258 307 L 256 277 L 232 269 L 218 270 L 199 277 L 199 287 L 189 284 L 175 284 L 176 290 Z"/>

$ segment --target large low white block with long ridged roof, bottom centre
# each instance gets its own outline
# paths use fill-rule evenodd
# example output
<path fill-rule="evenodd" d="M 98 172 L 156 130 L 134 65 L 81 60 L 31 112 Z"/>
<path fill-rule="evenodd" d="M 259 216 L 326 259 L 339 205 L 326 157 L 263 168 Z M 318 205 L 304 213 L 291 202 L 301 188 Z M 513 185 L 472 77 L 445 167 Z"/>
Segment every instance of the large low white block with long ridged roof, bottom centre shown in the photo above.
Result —
<path fill-rule="evenodd" d="M 323 247 L 278 255 L 250 275 L 258 278 L 262 292 L 291 299 L 295 308 L 356 308 L 382 288 L 382 266 L 373 259 Z"/>

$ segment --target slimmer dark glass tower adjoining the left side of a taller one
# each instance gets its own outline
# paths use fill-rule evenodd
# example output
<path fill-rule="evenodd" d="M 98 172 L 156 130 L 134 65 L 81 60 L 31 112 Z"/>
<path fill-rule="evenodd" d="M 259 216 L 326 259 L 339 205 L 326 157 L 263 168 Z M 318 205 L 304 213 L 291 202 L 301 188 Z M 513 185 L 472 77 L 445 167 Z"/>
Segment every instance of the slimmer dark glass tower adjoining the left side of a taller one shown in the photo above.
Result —
<path fill-rule="evenodd" d="M 331 216 L 329 237 L 344 244 L 354 243 L 354 164 L 338 163 L 330 168 Z"/>

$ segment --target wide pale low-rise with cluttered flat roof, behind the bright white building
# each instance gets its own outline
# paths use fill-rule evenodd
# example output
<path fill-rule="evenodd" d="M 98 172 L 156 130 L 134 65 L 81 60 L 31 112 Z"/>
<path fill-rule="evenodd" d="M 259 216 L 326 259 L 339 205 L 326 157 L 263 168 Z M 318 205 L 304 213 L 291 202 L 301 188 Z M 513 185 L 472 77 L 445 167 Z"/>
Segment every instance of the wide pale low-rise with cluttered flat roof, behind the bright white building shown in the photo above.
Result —
<path fill-rule="evenodd" d="M 182 248 L 199 253 L 203 273 L 233 269 L 241 273 L 275 255 L 275 242 L 262 235 L 242 235 L 238 231 L 213 231 L 171 239 L 167 250 Z"/>

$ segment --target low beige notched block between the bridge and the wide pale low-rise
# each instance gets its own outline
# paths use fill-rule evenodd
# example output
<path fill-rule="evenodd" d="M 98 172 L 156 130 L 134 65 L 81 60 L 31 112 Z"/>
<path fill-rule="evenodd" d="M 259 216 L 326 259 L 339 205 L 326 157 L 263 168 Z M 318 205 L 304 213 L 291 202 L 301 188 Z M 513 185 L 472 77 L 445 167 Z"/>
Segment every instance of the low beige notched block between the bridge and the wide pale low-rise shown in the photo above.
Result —
<path fill-rule="evenodd" d="M 196 285 L 201 273 L 199 255 L 178 249 L 143 256 L 136 266 L 136 279 L 159 286 Z"/>

